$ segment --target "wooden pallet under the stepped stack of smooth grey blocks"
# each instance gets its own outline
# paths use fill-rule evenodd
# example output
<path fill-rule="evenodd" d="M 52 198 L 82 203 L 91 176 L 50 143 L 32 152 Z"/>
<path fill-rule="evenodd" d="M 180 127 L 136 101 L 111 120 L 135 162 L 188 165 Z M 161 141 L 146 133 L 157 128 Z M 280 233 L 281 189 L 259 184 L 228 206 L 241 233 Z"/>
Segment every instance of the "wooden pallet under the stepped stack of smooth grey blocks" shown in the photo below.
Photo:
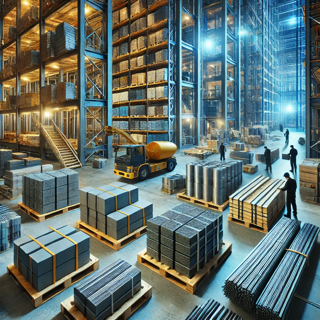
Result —
<path fill-rule="evenodd" d="M 96 228 L 89 226 L 81 220 L 77 221 L 77 228 L 85 232 L 87 235 L 92 236 L 101 241 L 102 243 L 108 245 L 110 248 L 115 249 L 116 251 L 119 251 L 121 248 L 131 243 L 133 240 L 138 239 L 140 236 L 143 236 L 147 232 L 147 226 L 143 226 L 133 231 L 129 235 L 124 236 L 119 240 L 116 240 L 104 234 L 103 232 L 97 230 Z"/>

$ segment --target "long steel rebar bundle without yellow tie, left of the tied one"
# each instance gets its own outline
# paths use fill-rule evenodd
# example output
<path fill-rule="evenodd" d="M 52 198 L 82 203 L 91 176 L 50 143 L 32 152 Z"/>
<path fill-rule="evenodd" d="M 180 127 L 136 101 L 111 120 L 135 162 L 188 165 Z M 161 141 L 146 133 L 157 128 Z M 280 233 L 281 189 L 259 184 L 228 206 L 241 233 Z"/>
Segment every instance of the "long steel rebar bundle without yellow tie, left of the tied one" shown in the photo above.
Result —
<path fill-rule="evenodd" d="M 300 230 L 300 223 L 282 218 L 228 276 L 223 286 L 225 296 L 253 313 L 256 300 Z"/>

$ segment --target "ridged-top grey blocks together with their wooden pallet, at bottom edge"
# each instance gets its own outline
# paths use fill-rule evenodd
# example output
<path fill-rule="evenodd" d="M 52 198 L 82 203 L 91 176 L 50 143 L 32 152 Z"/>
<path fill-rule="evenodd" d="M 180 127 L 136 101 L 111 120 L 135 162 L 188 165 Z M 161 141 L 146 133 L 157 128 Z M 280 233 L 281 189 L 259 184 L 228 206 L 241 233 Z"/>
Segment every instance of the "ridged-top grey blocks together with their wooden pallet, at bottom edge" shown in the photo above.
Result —
<path fill-rule="evenodd" d="M 152 295 L 141 271 L 118 259 L 74 287 L 74 294 L 61 302 L 68 320 L 127 319 Z"/>

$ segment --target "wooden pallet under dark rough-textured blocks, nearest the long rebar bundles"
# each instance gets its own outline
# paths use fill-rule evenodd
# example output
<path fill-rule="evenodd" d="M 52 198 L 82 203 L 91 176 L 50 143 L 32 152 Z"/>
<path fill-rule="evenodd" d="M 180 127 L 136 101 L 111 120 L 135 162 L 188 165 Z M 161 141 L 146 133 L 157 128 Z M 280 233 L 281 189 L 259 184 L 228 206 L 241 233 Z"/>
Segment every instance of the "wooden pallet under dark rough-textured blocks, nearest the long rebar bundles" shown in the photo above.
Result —
<path fill-rule="evenodd" d="M 231 253 L 231 250 L 232 243 L 229 241 L 224 241 L 220 251 L 214 255 L 191 279 L 181 275 L 179 272 L 171 269 L 160 261 L 151 258 L 147 254 L 147 248 L 138 253 L 138 262 L 155 271 L 180 288 L 194 294 L 198 286 L 201 285 L 204 279 L 210 275 L 211 270 L 220 266 L 220 264 L 227 259 L 228 255 Z"/>

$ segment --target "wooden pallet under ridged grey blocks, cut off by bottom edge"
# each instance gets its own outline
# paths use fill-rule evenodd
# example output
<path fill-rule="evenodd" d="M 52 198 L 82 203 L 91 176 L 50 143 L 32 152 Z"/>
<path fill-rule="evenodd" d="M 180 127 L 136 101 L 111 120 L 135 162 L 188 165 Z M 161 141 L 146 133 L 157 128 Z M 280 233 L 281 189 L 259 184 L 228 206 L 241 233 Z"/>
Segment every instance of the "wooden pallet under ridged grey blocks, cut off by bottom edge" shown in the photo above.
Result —
<path fill-rule="evenodd" d="M 145 303 L 152 296 L 152 287 L 143 280 L 141 280 L 141 290 L 137 292 L 132 298 L 126 301 L 120 308 L 118 308 L 112 315 L 105 320 L 128 319 L 143 303 Z M 76 308 L 73 304 L 73 295 L 60 303 L 61 313 L 68 320 L 86 320 L 87 318 Z"/>

